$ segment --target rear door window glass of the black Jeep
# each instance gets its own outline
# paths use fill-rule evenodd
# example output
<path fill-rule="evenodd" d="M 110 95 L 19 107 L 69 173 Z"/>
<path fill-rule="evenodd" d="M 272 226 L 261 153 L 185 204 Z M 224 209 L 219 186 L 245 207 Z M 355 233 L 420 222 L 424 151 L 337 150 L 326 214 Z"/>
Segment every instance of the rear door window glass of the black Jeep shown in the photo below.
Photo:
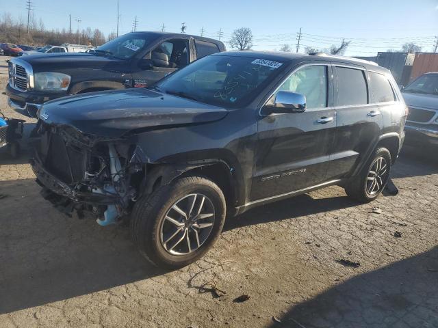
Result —
<path fill-rule="evenodd" d="M 337 67 L 337 106 L 368 103 L 367 84 L 363 70 Z"/>

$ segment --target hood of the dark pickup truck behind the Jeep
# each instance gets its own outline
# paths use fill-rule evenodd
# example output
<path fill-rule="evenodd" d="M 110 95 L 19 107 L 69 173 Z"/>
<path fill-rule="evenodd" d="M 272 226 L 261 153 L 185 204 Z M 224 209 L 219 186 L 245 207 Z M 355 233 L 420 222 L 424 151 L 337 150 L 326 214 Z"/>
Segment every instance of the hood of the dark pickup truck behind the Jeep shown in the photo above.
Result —
<path fill-rule="evenodd" d="M 55 70 L 57 68 L 102 68 L 108 64 L 122 63 L 122 59 L 93 55 L 91 53 L 40 53 L 27 51 L 31 56 L 20 59 L 31 64 L 35 71 Z"/>

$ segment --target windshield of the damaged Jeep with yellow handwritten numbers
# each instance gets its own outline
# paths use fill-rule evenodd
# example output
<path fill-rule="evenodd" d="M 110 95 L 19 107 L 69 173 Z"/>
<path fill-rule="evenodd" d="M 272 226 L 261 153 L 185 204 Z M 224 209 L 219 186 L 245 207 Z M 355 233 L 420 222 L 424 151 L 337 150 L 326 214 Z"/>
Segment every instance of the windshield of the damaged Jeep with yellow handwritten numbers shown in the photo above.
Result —
<path fill-rule="evenodd" d="M 283 68 L 278 61 L 212 55 L 178 70 L 157 87 L 162 92 L 210 105 L 242 107 Z"/>

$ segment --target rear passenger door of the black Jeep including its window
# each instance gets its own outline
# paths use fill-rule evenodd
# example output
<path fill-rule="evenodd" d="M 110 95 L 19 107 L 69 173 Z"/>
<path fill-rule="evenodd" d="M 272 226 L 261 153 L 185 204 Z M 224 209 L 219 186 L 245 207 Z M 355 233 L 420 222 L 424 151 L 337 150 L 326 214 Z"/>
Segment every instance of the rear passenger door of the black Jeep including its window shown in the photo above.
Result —
<path fill-rule="evenodd" d="M 335 109 L 337 111 L 335 149 L 328 178 L 348 176 L 370 145 L 381 135 L 382 114 L 372 100 L 365 68 L 333 64 Z"/>

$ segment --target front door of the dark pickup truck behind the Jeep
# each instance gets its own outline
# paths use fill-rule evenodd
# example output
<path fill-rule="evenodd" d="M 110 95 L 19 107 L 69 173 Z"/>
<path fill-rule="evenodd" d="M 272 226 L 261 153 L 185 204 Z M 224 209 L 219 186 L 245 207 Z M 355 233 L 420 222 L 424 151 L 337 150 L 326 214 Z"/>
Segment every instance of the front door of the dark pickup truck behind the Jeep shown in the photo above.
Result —
<path fill-rule="evenodd" d="M 144 59 L 153 60 L 151 70 L 141 70 L 138 63 L 134 63 L 132 74 L 133 87 L 149 87 L 166 75 L 190 63 L 189 39 L 171 39 L 158 44 L 155 49 L 146 53 Z"/>

